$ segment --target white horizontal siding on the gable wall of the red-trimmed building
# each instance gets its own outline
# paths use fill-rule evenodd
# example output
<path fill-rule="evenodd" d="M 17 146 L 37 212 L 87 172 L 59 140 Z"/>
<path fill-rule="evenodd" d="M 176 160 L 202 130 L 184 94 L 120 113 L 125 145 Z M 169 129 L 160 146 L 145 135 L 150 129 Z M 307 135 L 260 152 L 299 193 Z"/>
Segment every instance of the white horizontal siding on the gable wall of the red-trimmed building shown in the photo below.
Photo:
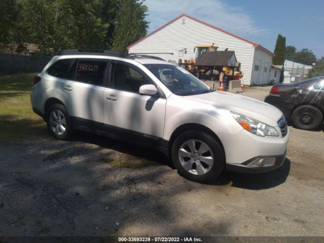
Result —
<path fill-rule="evenodd" d="M 195 46 L 212 45 L 213 43 L 218 46 L 218 51 L 224 51 L 226 48 L 229 51 L 235 51 L 236 59 L 241 63 L 241 71 L 244 72 L 242 80 L 245 85 L 250 85 L 254 68 L 255 48 L 253 45 L 185 16 L 135 44 L 129 49 L 129 53 L 146 53 L 178 63 L 179 59 L 184 62 L 184 60 L 195 58 L 193 52 Z M 179 57 L 179 51 L 182 50 L 184 51 L 183 57 Z"/>

